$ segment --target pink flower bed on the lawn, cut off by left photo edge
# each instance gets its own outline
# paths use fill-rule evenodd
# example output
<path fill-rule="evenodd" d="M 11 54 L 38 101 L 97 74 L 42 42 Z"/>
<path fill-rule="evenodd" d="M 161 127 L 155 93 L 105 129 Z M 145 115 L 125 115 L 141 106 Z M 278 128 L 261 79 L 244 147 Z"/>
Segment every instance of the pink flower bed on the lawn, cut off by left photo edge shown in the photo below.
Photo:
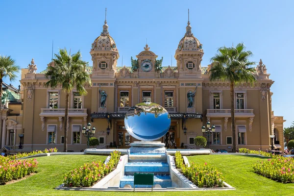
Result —
<path fill-rule="evenodd" d="M 36 159 L 11 160 L 9 157 L 0 156 L 0 184 L 20 179 L 35 172 L 37 164 Z"/>

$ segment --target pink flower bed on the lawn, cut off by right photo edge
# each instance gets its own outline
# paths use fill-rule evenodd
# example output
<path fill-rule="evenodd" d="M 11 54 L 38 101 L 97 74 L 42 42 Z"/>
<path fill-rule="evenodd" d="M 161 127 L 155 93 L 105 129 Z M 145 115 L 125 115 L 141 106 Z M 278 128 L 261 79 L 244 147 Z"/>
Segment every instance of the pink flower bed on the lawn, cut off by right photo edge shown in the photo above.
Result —
<path fill-rule="evenodd" d="M 282 183 L 294 183 L 294 159 L 278 157 L 254 164 L 255 173 Z"/>

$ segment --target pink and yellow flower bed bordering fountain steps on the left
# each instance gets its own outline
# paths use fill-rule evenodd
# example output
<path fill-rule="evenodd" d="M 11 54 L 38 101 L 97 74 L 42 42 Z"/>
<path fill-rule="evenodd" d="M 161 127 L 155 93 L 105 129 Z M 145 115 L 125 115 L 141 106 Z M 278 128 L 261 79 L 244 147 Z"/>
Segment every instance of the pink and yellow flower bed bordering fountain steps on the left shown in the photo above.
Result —
<path fill-rule="evenodd" d="M 121 152 L 111 152 L 107 165 L 101 161 L 85 163 L 64 175 L 63 183 L 67 187 L 90 187 L 115 168 L 120 160 Z"/>

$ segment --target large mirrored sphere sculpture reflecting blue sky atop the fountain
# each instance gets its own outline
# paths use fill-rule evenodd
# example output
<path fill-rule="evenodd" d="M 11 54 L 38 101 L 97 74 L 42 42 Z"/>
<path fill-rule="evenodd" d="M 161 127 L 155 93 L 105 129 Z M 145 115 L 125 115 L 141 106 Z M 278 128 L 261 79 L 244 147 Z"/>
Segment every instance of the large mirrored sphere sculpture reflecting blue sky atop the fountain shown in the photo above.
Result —
<path fill-rule="evenodd" d="M 156 103 L 144 102 L 131 107 L 124 117 L 127 132 L 142 141 L 154 141 L 164 136 L 171 126 L 167 110 Z"/>

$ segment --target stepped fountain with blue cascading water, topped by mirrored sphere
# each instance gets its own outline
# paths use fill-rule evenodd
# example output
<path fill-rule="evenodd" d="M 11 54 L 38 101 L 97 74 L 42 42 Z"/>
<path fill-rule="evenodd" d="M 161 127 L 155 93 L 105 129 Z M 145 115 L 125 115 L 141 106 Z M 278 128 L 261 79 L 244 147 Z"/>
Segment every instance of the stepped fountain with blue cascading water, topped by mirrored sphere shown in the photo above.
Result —
<path fill-rule="evenodd" d="M 124 125 L 132 137 L 141 141 L 131 143 L 127 151 L 122 150 L 125 155 L 121 156 L 117 169 L 93 188 L 151 188 L 151 185 L 134 185 L 134 173 L 153 173 L 154 188 L 197 188 L 175 169 L 173 157 L 167 153 L 165 144 L 155 141 L 162 138 L 171 125 L 170 115 L 164 107 L 151 102 L 139 103 L 128 110 Z M 85 150 L 85 154 L 107 152 Z M 209 154 L 210 150 L 184 150 L 184 153 Z"/>

